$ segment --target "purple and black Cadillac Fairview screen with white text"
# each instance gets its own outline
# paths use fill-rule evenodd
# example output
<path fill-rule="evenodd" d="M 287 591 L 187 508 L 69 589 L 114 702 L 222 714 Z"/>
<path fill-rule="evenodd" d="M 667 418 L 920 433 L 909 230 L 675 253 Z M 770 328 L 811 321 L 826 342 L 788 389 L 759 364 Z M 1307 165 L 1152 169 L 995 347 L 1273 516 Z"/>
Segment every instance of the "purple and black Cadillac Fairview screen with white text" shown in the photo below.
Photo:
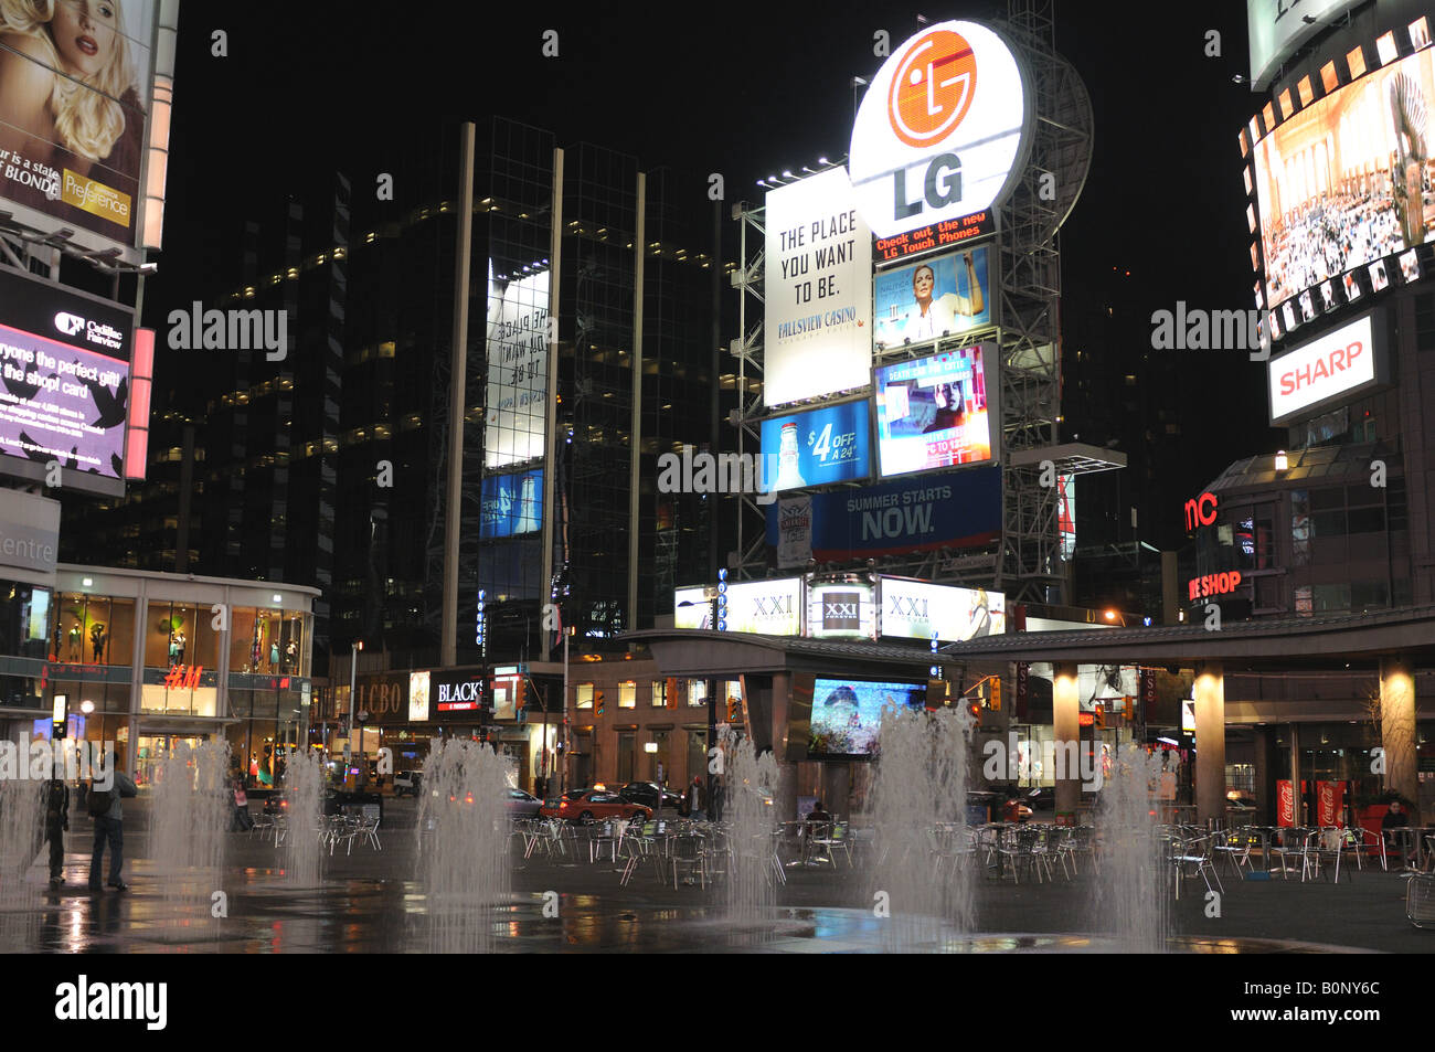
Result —
<path fill-rule="evenodd" d="M 123 479 L 133 339 L 128 307 L 0 268 L 0 452 L 34 465 L 19 474 Z"/>

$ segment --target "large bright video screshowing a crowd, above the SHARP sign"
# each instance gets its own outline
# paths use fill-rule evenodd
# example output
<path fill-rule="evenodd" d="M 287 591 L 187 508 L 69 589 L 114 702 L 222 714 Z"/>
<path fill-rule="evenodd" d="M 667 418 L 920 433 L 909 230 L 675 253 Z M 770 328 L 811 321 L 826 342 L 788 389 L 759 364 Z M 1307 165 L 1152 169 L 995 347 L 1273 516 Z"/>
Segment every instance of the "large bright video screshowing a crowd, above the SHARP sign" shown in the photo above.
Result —
<path fill-rule="evenodd" d="M 1432 103 L 1435 52 L 1425 49 L 1319 99 L 1256 144 L 1269 309 L 1435 240 Z"/>

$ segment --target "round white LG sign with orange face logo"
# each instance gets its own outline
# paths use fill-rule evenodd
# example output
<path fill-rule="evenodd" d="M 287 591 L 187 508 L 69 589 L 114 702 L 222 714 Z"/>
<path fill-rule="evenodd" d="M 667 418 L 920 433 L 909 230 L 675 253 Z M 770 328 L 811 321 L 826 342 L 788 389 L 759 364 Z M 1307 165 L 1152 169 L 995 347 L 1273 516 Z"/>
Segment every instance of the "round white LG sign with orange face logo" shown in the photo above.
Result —
<path fill-rule="evenodd" d="M 943 22 L 878 70 L 852 125 L 857 207 L 878 238 L 990 208 L 1019 172 L 1027 93 L 1012 49 Z"/>

